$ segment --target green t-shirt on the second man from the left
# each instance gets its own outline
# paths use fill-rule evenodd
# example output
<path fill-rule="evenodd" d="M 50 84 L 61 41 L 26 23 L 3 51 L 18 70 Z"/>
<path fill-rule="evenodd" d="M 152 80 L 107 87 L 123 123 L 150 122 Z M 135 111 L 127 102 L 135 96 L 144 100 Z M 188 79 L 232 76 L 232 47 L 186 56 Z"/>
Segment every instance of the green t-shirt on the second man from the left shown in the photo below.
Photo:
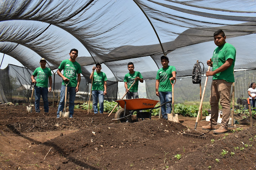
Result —
<path fill-rule="evenodd" d="M 77 74 L 82 73 L 81 66 L 78 62 L 72 62 L 70 60 L 63 60 L 58 67 L 59 69 L 63 70 L 63 76 L 67 77 L 70 80 L 68 86 L 76 87 L 77 86 Z M 64 80 L 62 80 L 62 85 L 65 86 Z"/>

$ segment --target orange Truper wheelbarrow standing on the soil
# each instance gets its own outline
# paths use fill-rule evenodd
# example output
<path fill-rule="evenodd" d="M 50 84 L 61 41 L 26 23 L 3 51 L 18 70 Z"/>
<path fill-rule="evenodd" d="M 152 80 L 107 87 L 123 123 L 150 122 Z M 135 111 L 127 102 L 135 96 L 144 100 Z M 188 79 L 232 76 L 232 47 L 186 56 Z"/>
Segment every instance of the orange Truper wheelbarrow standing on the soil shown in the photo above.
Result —
<path fill-rule="evenodd" d="M 117 121 L 117 123 L 132 122 L 132 114 L 137 111 L 138 118 L 144 120 L 145 118 L 151 119 L 151 113 L 153 109 L 157 109 L 162 105 L 170 102 L 163 103 L 160 106 L 155 107 L 155 105 L 160 102 L 158 100 L 151 99 L 126 99 L 126 100 L 116 100 L 116 102 L 121 106 L 122 109 L 117 110 L 115 118 L 112 121 Z M 149 110 L 149 112 L 140 112 L 141 110 Z"/>

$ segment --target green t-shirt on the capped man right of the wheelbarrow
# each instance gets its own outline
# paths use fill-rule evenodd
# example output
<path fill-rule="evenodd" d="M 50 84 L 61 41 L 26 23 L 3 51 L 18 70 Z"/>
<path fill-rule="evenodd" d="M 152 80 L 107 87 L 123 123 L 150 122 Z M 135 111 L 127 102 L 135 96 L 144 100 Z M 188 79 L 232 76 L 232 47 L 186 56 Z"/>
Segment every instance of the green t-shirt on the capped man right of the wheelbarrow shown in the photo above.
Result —
<path fill-rule="evenodd" d="M 173 77 L 172 73 L 176 71 L 174 66 L 168 66 L 167 68 L 160 68 L 157 71 L 157 77 L 155 79 L 159 80 L 159 92 L 171 92 L 171 83 L 169 78 Z M 171 81 L 173 83 L 173 81 Z"/>

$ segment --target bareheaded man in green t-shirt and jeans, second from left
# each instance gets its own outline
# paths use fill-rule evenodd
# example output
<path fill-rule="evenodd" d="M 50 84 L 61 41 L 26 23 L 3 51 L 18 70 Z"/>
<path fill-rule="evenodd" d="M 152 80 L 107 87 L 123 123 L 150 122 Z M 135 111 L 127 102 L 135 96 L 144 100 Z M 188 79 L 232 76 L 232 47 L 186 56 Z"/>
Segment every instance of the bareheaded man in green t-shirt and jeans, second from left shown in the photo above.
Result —
<path fill-rule="evenodd" d="M 58 105 L 57 118 L 60 117 L 60 111 L 63 111 L 65 105 L 65 89 L 67 86 L 67 93 L 69 93 L 69 106 L 68 110 L 70 112 L 69 117 L 73 118 L 74 107 L 75 107 L 75 98 L 76 92 L 78 92 L 78 87 L 81 81 L 81 66 L 76 62 L 76 57 L 78 56 L 77 49 L 70 50 L 70 59 L 63 60 L 58 67 L 57 74 L 62 77 L 62 85 L 61 85 L 61 94 L 60 94 L 60 103 Z M 63 70 L 64 69 L 64 70 Z M 63 75 L 61 71 L 63 70 Z M 77 77 L 77 79 L 76 79 Z"/>

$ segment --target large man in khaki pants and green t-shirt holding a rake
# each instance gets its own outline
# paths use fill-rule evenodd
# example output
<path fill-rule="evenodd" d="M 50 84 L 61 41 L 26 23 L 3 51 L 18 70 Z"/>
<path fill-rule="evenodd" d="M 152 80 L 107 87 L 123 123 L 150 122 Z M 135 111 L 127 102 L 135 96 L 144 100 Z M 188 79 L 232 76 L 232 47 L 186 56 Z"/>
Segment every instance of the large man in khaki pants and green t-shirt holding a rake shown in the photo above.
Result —
<path fill-rule="evenodd" d="M 206 76 L 213 76 L 211 83 L 211 119 L 210 124 L 202 126 L 204 130 L 214 130 L 214 133 L 227 132 L 230 116 L 231 85 L 235 81 L 234 65 L 236 60 L 236 49 L 226 43 L 226 36 L 222 30 L 214 33 L 214 43 L 218 47 L 214 50 L 213 57 L 207 61 L 207 65 L 213 67 L 213 71 L 207 71 Z M 222 106 L 222 120 L 218 129 L 217 120 L 219 115 L 219 101 Z"/>

